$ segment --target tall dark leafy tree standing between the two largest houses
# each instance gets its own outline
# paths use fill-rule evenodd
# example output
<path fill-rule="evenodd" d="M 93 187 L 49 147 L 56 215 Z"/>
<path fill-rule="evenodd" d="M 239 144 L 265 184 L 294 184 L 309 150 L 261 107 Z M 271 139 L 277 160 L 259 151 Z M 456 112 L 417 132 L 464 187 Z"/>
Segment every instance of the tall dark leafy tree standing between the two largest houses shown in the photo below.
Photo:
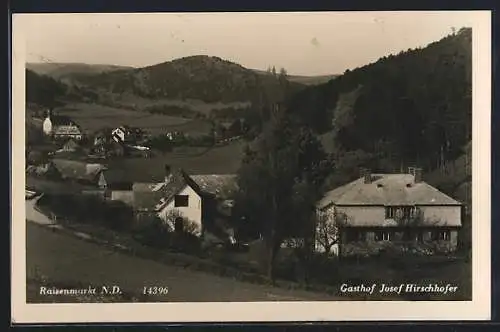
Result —
<path fill-rule="evenodd" d="M 296 235 L 307 238 L 307 229 L 311 228 L 312 201 L 316 198 L 314 171 L 323 154 L 307 132 L 275 108 L 256 147 L 245 150 L 238 172 L 236 211 L 255 225 L 264 240 L 269 278 L 273 278 L 274 261 L 283 240 Z"/>

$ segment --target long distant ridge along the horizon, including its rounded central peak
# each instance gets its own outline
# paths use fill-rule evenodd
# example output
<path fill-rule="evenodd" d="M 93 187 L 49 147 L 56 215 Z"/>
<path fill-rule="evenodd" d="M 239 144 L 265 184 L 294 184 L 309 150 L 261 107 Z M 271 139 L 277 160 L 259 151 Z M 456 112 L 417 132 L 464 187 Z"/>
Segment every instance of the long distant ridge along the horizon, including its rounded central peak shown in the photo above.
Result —
<path fill-rule="evenodd" d="M 266 71 L 216 56 L 195 55 L 142 68 L 83 63 L 28 63 L 26 68 L 69 85 L 149 99 L 250 102 L 292 94 L 334 75 L 287 75 L 287 84 Z"/>

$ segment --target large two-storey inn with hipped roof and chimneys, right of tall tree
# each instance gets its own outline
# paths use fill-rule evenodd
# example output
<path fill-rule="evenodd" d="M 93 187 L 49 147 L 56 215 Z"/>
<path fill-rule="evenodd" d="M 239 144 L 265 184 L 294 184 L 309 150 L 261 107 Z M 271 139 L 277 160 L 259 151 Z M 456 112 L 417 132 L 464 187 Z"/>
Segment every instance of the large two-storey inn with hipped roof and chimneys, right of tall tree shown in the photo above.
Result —
<path fill-rule="evenodd" d="M 432 246 L 453 251 L 461 227 L 462 204 L 422 181 L 422 170 L 372 174 L 336 188 L 317 204 L 319 215 L 338 225 L 340 255 L 377 252 L 390 245 Z M 317 227 L 322 227 L 318 223 Z M 316 249 L 325 234 L 316 229 Z"/>

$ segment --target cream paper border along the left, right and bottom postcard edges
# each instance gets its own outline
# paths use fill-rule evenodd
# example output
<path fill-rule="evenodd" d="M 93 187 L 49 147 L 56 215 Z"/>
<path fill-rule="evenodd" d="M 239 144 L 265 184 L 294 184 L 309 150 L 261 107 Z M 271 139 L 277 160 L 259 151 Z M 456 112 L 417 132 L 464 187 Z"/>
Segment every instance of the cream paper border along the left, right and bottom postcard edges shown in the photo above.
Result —
<path fill-rule="evenodd" d="M 23 15 L 29 14 L 14 14 L 12 16 L 12 322 L 128 323 L 490 319 L 491 13 L 490 11 L 473 11 L 469 13 L 471 15 L 471 19 L 474 21 L 472 26 L 472 205 L 474 213 L 472 223 L 472 301 L 230 302 L 155 304 L 27 304 L 25 302 L 26 249 L 25 222 L 23 217 L 23 213 L 25 213 L 23 187 L 25 184 L 24 59 L 26 52 L 22 30 L 23 26 L 20 18 Z M 384 15 L 387 14 L 390 14 L 390 12 L 384 12 Z M 227 15 L 234 14 L 227 13 Z M 282 15 L 287 15 L 287 13 L 282 13 Z"/>

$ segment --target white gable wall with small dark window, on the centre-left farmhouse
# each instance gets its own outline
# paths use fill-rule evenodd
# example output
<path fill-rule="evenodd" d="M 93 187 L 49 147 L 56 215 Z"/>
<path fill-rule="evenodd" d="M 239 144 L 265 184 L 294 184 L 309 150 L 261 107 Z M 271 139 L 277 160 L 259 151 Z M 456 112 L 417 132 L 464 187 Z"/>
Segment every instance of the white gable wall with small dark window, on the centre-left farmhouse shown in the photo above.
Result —
<path fill-rule="evenodd" d="M 168 222 L 168 213 L 172 211 L 178 212 L 185 219 L 194 223 L 197 227 L 195 234 L 201 236 L 202 233 L 202 199 L 190 186 L 184 187 L 178 195 L 188 195 L 189 201 L 186 207 L 175 207 L 175 200 L 170 202 L 158 213 L 158 216 Z M 173 225 L 171 225 L 173 226 Z"/>

